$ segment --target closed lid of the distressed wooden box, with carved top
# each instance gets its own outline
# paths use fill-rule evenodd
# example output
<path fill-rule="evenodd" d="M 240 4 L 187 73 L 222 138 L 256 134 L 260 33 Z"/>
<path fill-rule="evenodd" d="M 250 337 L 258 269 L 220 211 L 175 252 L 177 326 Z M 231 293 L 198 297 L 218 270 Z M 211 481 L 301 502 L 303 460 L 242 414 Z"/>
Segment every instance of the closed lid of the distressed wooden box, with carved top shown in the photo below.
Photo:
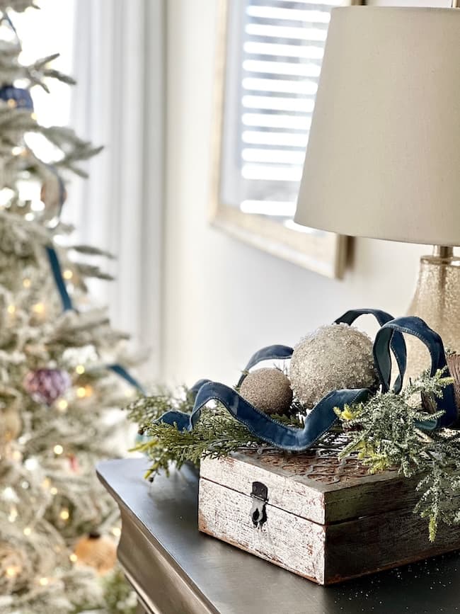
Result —
<path fill-rule="evenodd" d="M 394 471 L 369 475 L 357 457 L 338 460 L 335 450 L 205 458 L 200 477 L 248 496 L 253 482 L 262 482 L 268 489 L 268 505 L 322 525 L 413 508 L 420 479 Z"/>

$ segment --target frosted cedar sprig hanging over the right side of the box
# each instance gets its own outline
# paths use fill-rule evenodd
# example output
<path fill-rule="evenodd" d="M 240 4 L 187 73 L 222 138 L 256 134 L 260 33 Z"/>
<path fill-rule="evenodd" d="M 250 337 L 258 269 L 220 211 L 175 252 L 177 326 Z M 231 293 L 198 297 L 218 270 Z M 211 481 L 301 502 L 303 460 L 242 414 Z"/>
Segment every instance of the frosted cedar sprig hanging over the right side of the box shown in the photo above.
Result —
<path fill-rule="evenodd" d="M 420 423 L 442 416 L 442 411 L 430 411 L 430 399 L 442 397 L 444 387 L 452 382 L 444 370 L 433 377 L 424 373 L 401 394 L 376 394 L 367 402 L 335 409 L 351 433 L 351 441 L 339 457 L 357 453 L 370 473 L 397 470 L 405 477 L 420 474 L 417 491 L 421 495 L 414 512 L 428 519 L 430 541 L 435 540 L 440 522 L 460 523 L 454 499 L 460 495 L 460 433 L 420 428 Z"/>

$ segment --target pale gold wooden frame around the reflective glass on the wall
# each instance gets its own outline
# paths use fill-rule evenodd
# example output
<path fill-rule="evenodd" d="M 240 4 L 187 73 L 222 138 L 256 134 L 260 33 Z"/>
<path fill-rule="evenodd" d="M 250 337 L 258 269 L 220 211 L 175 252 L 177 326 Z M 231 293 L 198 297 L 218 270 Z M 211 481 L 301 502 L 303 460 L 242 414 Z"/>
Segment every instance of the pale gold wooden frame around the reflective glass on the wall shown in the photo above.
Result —
<path fill-rule="evenodd" d="M 292 229 L 268 216 L 243 212 L 221 198 L 222 144 L 228 8 L 231 0 L 219 2 L 217 62 L 214 94 L 214 129 L 212 132 L 212 183 L 210 222 L 236 239 L 284 258 L 330 278 L 340 278 L 345 270 L 348 237 L 314 229 Z M 352 1 L 350 4 L 362 4 Z"/>

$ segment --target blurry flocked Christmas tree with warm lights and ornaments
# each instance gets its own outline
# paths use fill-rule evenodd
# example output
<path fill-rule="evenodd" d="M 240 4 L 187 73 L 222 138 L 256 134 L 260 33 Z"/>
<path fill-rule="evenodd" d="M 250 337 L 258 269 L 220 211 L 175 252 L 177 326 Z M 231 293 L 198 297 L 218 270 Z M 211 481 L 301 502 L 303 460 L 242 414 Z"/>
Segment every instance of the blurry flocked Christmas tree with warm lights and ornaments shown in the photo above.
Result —
<path fill-rule="evenodd" d="M 107 254 L 72 245 L 60 220 L 69 174 L 99 150 L 35 117 L 34 89 L 72 81 L 52 57 L 19 61 L 14 11 L 29 6 L 0 1 L 0 610 L 127 612 L 117 513 L 94 467 L 117 452 L 105 415 L 133 382 L 125 336 L 88 300 L 86 280 L 108 277 L 92 260 Z"/>

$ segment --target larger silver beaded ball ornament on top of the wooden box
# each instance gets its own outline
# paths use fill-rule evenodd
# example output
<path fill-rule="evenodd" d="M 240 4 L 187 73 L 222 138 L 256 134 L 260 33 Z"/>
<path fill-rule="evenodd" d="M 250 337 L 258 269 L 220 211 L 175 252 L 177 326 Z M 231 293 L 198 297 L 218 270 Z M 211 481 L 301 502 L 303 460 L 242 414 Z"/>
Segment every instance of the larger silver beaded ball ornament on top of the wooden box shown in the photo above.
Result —
<path fill-rule="evenodd" d="M 311 409 L 328 392 L 378 385 L 372 340 L 348 324 L 330 324 L 301 339 L 289 368 L 294 396 Z"/>

